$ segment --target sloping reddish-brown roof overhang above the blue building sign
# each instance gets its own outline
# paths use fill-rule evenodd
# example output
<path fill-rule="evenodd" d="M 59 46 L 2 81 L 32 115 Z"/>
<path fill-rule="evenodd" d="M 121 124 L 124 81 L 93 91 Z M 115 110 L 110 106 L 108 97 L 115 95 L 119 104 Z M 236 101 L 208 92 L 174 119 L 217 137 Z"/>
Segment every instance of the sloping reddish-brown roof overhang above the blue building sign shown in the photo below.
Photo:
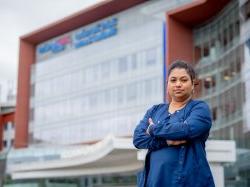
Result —
<path fill-rule="evenodd" d="M 20 37 L 20 40 L 28 41 L 31 44 L 38 44 L 146 1 L 147 0 L 126 0 L 118 2 L 117 0 L 104 0 L 25 34 Z"/>

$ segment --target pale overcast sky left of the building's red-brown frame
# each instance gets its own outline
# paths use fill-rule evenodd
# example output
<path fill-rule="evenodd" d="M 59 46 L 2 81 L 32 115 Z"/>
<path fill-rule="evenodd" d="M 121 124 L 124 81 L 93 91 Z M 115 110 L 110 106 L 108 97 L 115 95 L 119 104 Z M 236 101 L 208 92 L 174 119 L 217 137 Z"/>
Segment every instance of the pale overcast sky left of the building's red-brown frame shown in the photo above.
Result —
<path fill-rule="evenodd" d="M 20 36 L 100 1 L 0 0 L 0 79 L 17 79 Z"/>

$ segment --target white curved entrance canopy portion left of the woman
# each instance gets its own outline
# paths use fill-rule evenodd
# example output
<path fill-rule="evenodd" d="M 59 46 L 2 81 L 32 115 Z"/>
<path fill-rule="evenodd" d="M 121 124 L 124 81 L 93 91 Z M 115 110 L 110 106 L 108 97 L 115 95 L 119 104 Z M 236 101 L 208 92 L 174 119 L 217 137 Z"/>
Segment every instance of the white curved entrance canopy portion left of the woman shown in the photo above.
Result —
<path fill-rule="evenodd" d="M 39 158 L 33 162 L 17 163 L 12 161 L 13 158 L 8 158 L 7 172 L 13 179 L 31 179 L 128 172 L 138 170 L 143 165 L 137 160 L 137 151 L 131 139 L 113 136 L 94 145 L 66 147 L 57 153 L 54 151 L 54 155 L 58 154 L 60 158 L 48 161 Z"/>

